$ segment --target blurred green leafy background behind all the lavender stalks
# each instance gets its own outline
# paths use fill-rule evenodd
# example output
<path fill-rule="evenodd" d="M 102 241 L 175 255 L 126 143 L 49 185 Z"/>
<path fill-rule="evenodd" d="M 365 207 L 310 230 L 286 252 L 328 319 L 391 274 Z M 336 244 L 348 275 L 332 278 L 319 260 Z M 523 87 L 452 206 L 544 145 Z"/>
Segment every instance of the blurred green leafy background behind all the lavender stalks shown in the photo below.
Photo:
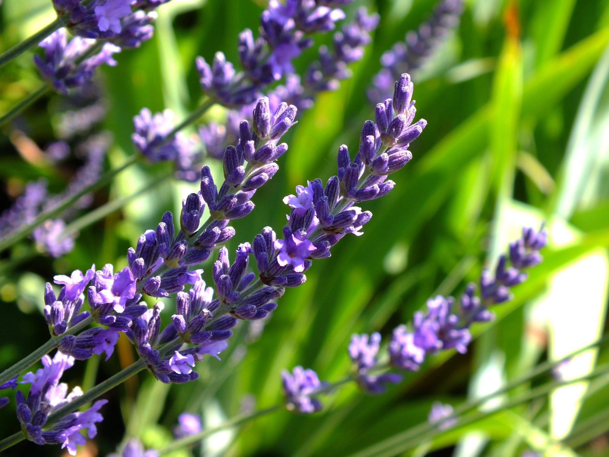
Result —
<path fill-rule="evenodd" d="M 287 213 L 283 196 L 307 179 L 333 174 L 340 144 L 357 148 L 362 123 L 373 118 L 365 91 L 380 68 L 380 55 L 428 18 L 434 4 L 356 0 L 346 8 L 348 18 L 361 5 L 380 13 L 373 43 L 364 60 L 352 66 L 353 77 L 340 90 L 319 96 L 284 137 L 289 152 L 279 161 L 280 172 L 256 193 L 255 211 L 234 222 L 237 235 L 230 249 L 251 242 L 265 225 L 280 232 Z M 181 118 L 197 105 L 195 56 L 209 62 L 214 52 L 223 51 L 238 62 L 238 32 L 256 29 L 264 7 L 263 0 L 172 0 L 158 10 L 152 40 L 122 52 L 119 65 L 99 75 L 108 108 L 104 129 L 114 136 L 107 168 L 135 154 L 132 117 L 141 108 L 171 108 Z M 4 0 L 0 12 L 2 49 L 52 20 L 46 0 Z M 315 46 L 298 58 L 298 71 L 316 57 L 320 44 L 330 41 L 330 35 L 316 37 Z M 518 236 L 519 227 L 537 227 L 542 220 L 551 237 L 544 263 L 514 290 L 512 302 L 498 307 L 496 322 L 474 327 L 477 338 L 468 354 L 431 357 L 420 372 L 377 397 L 345 386 L 326 397 L 323 413 L 302 417 L 281 411 L 216 434 L 192 452 L 350 455 L 424 421 L 435 400 L 455 405 L 491 392 L 541 360 L 594 341 L 605 327 L 609 270 L 608 44 L 609 3 L 604 0 L 466 1 L 459 27 L 413 75 L 417 118 L 427 119 L 428 127 L 412 145 L 413 160 L 392 176 L 397 183 L 392 193 L 362 205 L 374 214 L 364 236 L 345 237 L 331 258 L 315 261 L 308 281 L 286 292 L 263 323 L 264 331 L 259 322 L 241 325 L 222 363 L 200 365 L 198 381 L 166 386 L 141 374 L 109 392 L 99 434 L 79 455 L 107 455 L 125 431 L 151 447 L 166 444 L 182 411 L 202 414 L 211 427 L 252 404 L 274 405 L 281 400 L 281 370 L 295 365 L 311 367 L 323 379 L 342 378 L 350 366 L 351 333 L 389 335 L 429 297 L 460 294 Z M 38 84 L 31 52 L 2 68 L 0 112 Z M 57 95 L 42 99 L 3 128 L 3 207 L 25 182 L 40 176 L 49 188 L 61 190 L 79 165 L 76 159 L 60 167 L 28 161 L 15 146 L 16 130 L 38 147 L 50 143 L 58 103 Z M 203 121 L 223 115 L 216 107 Z M 221 166 L 209 164 L 219 177 Z M 167 166 L 130 168 L 96 193 L 94 205 L 132 194 Z M 196 189 L 196 184 L 160 182 L 84 228 L 76 249 L 57 260 L 35 255 L 13 266 L 11 258 L 27 252 L 31 242 L 13 247 L 4 258 L 11 267 L 2 269 L 0 278 L 0 366 L 48 338 L 41 316 L 44 282 L 91 263 L 124 266 L 125 252 L 138 236 L 155 227 L 164 211 L 179 213 L 183 196 Z M 206 279 L 211 261 L 204 265 Z M 165 302 L 163 317 L 169 322 L 175 305 Z M 71 387 L 89 388 L 135 356 L 126 340 L 116 353 L 107 363 L 99 358 L 79 363 L 65 378 Z M 588 354 L 573 374 L 588 372 L 596 358 L 605 361 L 609 352 Z M 604 382 L 594 386 L 586 393 L 563 389 L 445 434 L 429 451 L 459 457 L 517 456 L 530 448 L 544 455 L 609 455 L 609 391 Z M 3 434 L 16 431 L 14 414 L 14 404 L 0 410 Z M 62 454 L 57 446 L 34 446 L 21 443 L 5 455 Z"/>

